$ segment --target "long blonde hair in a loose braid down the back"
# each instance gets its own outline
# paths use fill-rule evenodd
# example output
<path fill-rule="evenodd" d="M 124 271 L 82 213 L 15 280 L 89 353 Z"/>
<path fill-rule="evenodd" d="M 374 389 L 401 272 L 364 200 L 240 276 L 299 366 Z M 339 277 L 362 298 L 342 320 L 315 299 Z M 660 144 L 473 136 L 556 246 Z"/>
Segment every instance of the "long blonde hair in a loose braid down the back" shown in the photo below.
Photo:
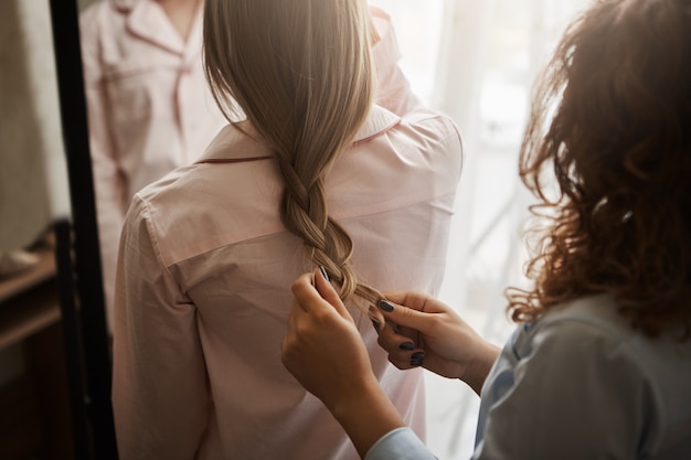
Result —
<path fill-rule="evenodd" d="M 373 103 L 370 20 L 363 0 L 206 0 L 204 71 L 221 110 L 235 103 L 275 153 L 283 223 L 309 257 L 353 295 L 352 239 L 328 213 L 323 175 L 352 146 Z"/>

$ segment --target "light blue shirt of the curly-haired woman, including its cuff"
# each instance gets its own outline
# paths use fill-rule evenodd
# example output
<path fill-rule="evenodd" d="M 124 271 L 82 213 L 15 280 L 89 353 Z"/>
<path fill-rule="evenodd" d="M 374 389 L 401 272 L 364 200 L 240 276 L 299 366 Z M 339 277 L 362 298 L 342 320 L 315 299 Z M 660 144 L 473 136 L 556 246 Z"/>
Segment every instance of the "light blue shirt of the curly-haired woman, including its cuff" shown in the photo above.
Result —
<path fill-rule="evenodd" d="M 485 386 L 475 460 L 691 459 L 691 341 L 647 339 L 610 296 L 519 327 Z M 432 460 L 410 429 L 365 460 Z"/>

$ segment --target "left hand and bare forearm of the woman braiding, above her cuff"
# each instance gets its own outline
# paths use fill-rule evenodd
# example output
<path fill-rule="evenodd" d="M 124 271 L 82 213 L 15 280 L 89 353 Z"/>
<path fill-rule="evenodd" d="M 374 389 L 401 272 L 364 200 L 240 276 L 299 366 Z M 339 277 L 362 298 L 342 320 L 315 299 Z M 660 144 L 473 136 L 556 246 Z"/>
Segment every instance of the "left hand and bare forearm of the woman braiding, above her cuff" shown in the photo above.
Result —
<path fill-rule="evenodd" d="M 380 387 L 350 313 L 319 270 L 293 284 L 293 310 L 281 344 L 286 368 L 341 424 L 360 457 L 405 426 Z"/>

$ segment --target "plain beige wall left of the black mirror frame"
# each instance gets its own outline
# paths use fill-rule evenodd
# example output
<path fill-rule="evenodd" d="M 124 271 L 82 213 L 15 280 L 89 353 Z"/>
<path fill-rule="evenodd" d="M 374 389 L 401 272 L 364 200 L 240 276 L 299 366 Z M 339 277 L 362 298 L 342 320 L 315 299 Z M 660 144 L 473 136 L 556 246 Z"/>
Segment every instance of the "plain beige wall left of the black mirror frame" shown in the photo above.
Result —
<path fill-rule="evenodd" d="M 0 1 L 0 253 L 34 243 L 70 214 L 47 0 Z M 0 386 L 23 372 L 0 353 Z"/>

